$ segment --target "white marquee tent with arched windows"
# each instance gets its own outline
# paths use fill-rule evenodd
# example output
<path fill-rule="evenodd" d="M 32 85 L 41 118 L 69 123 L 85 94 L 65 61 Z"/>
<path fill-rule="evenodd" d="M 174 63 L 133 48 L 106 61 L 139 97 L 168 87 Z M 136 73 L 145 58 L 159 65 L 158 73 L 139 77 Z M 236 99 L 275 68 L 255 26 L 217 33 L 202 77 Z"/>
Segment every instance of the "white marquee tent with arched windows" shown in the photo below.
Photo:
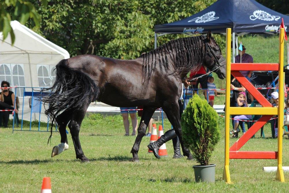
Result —
<path fill-rule="evenodd" d="M 13 86 L 51 86 L 55 65 L 69 58 L 69 53 L 18 21 L 12 21 L 11 27 L 15 34 L 13 46 L 10 35 L 1 41 L 0 33 L 0 81 L 6 80 Z"/>

